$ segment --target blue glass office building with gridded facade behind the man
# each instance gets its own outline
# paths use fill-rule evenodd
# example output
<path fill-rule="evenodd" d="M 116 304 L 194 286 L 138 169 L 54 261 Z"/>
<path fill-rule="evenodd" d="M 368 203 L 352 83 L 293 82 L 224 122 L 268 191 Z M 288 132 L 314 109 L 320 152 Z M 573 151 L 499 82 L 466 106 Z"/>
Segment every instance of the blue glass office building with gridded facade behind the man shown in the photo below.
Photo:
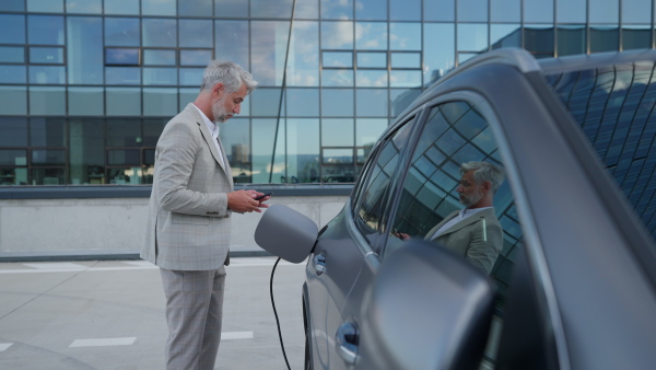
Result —
<path fill-rule="evenodd" d="M 2 0 L 0 184 L 150 184 L 211 59 L 259 88 L 221 128 L 235 182 L 352 183 L 472 56 L 654 47 L 653 0 Z"/>

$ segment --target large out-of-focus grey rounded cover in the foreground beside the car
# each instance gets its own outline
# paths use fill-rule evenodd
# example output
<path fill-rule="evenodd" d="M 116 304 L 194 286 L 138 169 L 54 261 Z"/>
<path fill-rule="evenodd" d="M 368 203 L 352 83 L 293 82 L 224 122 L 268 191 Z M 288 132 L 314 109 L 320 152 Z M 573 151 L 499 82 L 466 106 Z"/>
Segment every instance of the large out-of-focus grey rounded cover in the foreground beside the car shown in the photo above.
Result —
<path fill-rule="evenodd" d="M 386 256 L 367 291 L 360 360 L 372 369 L 479 369 L 493 299 L 481 270 L 412 240 Z"/>

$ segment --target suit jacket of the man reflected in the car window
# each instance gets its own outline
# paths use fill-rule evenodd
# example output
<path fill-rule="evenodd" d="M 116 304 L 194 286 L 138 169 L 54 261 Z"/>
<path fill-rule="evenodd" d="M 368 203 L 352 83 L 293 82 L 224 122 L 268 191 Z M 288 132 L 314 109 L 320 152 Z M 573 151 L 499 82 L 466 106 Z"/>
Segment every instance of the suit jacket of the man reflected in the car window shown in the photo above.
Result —
<path fill-rule="evenodd" d="M 442 222 L 431 229 L 424 239 L 431 240 L 435 232 L 448 220 L 456 217 L 458 212 L 454 211 L 448 215 Z M 494 209 L 490 208 L 452 226 L 435 238 L 433 242 L 446 246 L 467 258 L 476 267 L 490 274 L 503 247 L 503 230 L 494 215 Z"/>

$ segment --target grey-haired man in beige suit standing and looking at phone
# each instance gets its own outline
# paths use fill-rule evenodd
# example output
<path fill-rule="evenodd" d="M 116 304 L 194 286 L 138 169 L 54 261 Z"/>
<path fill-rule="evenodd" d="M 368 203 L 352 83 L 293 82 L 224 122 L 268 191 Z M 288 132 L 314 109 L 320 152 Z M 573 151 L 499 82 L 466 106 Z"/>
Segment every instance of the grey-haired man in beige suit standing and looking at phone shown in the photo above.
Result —
<path fill-rule="evenodd" d="M 194 103 L 164 127 L 141 257 L 160 266 L 166 296 L 167 369 L 213 369 L 221 339 L 232 212 L 260 212 L 269 197 L 233 192 L 219 123 L 238 114 L 257 82 L 212 61 Z"/>

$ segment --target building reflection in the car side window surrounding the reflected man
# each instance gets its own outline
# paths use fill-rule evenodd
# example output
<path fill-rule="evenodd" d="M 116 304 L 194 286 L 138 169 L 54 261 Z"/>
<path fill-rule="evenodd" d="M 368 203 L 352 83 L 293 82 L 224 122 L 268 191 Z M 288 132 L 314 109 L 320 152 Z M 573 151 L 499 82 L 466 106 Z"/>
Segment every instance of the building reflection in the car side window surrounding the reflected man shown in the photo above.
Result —
<path fill-rule="evenodd" d="M 460 165 L 478 161 L 503 167 L 496 142 L 484 116 L 464 101 L 433 107 L 412 152 L 393 230 L 384 255 L 401 247 L 405 241 L 395 235 L 424 239 L 445 217 L 465 208 L 459 203 L 457 187 Z M 496 280 L 502 304 L 522 229 L 507 181 L 494 195 L 494 213 L 503 229 L 503 246 L 490 275 Z"/>

